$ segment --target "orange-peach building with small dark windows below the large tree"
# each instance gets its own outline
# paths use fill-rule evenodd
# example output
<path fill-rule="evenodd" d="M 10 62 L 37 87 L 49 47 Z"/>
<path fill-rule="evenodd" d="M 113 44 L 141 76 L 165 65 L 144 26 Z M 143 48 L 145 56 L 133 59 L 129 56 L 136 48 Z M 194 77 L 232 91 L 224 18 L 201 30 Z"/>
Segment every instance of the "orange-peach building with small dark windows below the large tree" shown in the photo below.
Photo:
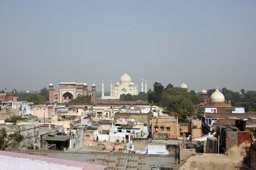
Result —
<path fill-rule="evenodd" d="M 167 134 L 169 139 L 178 139 L 180 136 L 180 125 L 176 116 L 159 116 L 152 118 L 152 138 L 155 133 Z"/>

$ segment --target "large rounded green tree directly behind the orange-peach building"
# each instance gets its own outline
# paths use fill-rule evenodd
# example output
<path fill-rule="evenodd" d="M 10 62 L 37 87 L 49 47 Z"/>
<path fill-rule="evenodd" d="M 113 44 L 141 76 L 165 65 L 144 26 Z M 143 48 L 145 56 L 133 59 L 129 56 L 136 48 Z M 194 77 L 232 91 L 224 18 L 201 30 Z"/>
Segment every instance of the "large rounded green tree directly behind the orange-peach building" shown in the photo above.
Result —
<path fill-rule="evenodd" d="M 167 88 L 163 91 L 160 105 L 169 113 L 179 117 L 179 122 L 188 122 L 187 117 L 195 113 L 191 94 L 184 88 Z"/>

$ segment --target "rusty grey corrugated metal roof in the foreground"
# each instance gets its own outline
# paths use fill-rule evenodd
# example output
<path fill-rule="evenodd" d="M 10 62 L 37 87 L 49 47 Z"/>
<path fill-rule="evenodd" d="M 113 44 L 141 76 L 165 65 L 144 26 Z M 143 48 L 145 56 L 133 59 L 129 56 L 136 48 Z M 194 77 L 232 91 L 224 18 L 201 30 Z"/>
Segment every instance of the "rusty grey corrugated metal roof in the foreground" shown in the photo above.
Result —
<path fill-rule="evenodd" d="M 107 170 L 148 170 L 149 167 L 169 164 L 164 167 L 175 167 L 175 158 L 171 155 L 145 155 L 135 153 L 101 153 L 101 152 L 61 152 L 49 150 L 8 150 L 19 153 L 28 153 L 38 156 L 47 156 L 58 159 L 82 161 L 108 166 Z"/>

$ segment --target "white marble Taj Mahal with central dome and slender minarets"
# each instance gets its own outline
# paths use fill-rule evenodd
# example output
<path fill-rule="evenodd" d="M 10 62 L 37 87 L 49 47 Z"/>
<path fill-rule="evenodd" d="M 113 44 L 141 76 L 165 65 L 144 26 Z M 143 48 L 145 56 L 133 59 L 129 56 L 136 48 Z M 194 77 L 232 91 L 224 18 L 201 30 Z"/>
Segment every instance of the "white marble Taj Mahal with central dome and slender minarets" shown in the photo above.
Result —
<path fill-rule="evenodd" d="M 141 80 L 141 92 L 147 93 L 147 81 L 145 81 L 145 88 L 143 79 Z M 121 94 L 138 95 L 138 85 L 131 81 L 131 76 L 125 73 L 120 77 L 120 82 L 110 82 L 110 96 L 104 95 L 104 80 L 102 80 L 102 99 L 119 99 Z"/>

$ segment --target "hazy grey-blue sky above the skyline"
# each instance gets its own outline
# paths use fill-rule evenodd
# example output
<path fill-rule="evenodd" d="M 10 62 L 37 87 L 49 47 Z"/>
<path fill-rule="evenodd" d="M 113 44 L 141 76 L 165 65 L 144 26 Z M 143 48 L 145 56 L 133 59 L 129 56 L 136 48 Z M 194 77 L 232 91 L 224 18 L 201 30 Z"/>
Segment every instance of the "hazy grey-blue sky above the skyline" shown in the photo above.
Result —
<path fill-rule="evenodd" d="M 255 65 L 256 0 L 0 0 L 0 89 L 110 91 L 126 69 L 149 88 L 256 90 Z"/>

